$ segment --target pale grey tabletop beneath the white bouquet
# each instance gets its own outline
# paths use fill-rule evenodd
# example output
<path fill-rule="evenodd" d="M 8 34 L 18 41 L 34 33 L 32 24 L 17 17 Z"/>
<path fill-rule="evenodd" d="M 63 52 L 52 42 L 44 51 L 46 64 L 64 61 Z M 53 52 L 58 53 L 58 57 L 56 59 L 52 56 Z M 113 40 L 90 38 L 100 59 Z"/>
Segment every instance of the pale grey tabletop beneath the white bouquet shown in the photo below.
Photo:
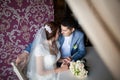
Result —
<path fill-rule="evenodd" d="M 85 56 L 89 67 L 89 75 L 85 80 L 114 80 L 108 68 L 99 57 L 93 47 L 87 47 L 87 55 Z M 68 71 L 59 73 L 60 80 L 80 80 Z"/>

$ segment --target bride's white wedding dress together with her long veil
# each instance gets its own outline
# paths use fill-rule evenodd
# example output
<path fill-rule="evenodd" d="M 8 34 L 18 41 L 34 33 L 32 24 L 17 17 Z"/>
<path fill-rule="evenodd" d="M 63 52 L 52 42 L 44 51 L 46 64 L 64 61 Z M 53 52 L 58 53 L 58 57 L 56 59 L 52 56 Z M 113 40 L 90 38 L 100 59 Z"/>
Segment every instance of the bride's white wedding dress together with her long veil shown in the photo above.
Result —
<path fill-rule="evenodd" d="M 57 47 L 59 44 L 56 42 Z M 36 58 L 42 57 L 42 64 L 36 62 Z M 57 55 L 50 54 L 49 45 L 46 41 L 44 28 L 41 28 L 33 41 L 28 68 L 27 68 L 27 77 L 29 80 L 58 80 L 58 75 L 53 72 L 56 68 L 56 63 L 60 58 L 60 52 Z M 39 59 L 39 58 L 38 58 Z M 40 61 L 40 60 L 39 60 Z M 39 74 L 39 70 L 36 67 L 42 69 L 42 71 L 52 71 L 47 74 Z"/>

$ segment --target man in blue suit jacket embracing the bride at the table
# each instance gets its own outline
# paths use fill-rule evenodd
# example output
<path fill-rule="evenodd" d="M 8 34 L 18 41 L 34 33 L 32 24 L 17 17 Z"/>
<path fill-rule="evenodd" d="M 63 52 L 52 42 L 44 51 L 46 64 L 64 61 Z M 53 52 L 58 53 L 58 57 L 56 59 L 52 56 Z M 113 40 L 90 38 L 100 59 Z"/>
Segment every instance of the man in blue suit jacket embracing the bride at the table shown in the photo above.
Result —
<path fill-rule="evenodd" d="M 61 34 L 59 35 L 58 42 L 60 44 L 61 58 L 58 61 L 62 63 L 66 61 L 76 61 L 82 59 L 86 54 L 84 45 L 84 34 L 76 29 L 76 21 L 71 17 L 66 17 L 61 23 Z M 16 59 L 16 64 L 21 64 L 22 67 L 27 63 L 32 43 L 19 55 Z"/>

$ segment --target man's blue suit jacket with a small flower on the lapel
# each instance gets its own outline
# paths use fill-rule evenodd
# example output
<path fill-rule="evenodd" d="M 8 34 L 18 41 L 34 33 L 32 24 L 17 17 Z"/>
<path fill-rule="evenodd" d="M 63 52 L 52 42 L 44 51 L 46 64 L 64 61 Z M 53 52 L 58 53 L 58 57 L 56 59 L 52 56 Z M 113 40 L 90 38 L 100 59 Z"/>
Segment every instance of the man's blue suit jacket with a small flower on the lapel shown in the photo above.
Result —
<path fill-rule="evenodd" d="M 61 48 L 64 42 L 64 36 L 60 35 L 58 41 Z M 32 43 L 30 43 L 28 47 L 25 48 L 25 50 L 28 51 L 28 53 L 30 53 L 31 47 L 32 47 Z M 75 30 L 73 32 L 70 50 L 71 50 L 71 58 L 74 61 L 81 59 L 86 54 L 86 49 L 84 45 L 84 34 L 82 32 L 78 30 Z"/>

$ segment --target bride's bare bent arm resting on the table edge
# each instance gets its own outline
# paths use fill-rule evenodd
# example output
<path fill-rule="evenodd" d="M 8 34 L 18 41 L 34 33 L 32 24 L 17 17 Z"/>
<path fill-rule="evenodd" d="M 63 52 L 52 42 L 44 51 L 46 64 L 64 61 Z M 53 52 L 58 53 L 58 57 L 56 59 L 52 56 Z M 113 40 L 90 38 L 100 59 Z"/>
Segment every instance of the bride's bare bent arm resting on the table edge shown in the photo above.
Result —
<path fill-rule="evenodd" d="M 47 74 L 51 74 L 51 73 L 59 73 L 62 71 L 66 71 L 68 70 L 68 66 L 62 64 L 62 66 L 60 68 L 55 68 L 53 70 L 45 70 L 44 69 L 44 63 L 43 63 L 43 56 L 37 56 L 36 57 L 36 70 L 37 73 L 40 75 L 47 75 Z"/>

